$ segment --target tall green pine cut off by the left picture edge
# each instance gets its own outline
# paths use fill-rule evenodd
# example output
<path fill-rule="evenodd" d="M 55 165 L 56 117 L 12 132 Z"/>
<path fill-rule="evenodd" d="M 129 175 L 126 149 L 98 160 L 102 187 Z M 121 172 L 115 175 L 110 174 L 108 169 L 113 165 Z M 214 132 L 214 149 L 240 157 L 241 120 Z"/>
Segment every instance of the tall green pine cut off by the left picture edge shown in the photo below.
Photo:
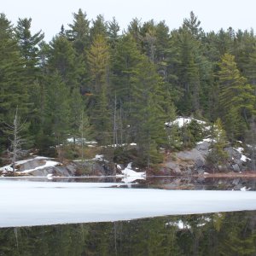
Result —
<path fill-rule="evenodd" d="M 0 143 L 1 149 L 9 146 L 7 137 L 3 135 L 4 122 L 11 123 L 12 113 L 19 106 L 20 118 L 27 118 L 29 112 L 29 96 L 24 73 L 24 61 L 15 40 L 14 29 L 6 16 L 0 15 Z"/>

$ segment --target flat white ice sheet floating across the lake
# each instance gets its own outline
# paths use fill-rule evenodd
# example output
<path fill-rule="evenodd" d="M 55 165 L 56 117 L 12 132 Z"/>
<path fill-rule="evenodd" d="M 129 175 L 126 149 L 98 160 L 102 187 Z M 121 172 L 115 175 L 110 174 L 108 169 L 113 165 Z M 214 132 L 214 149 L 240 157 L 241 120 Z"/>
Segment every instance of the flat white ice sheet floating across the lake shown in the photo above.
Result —
<path fill-rule="evenodd" d="M 256 210 L 254 191 L 103 188 L 112 185 L 0 181 L 0 227 Z"/>

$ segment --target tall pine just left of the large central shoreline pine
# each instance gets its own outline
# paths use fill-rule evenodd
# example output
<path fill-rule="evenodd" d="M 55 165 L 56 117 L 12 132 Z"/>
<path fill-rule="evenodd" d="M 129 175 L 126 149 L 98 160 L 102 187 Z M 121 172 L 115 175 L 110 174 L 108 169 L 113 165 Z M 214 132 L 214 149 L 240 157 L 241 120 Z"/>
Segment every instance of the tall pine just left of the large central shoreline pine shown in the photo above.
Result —
<path fill-rule="evenodd" d="M 121 144 L 133 143 L 129 121 L 133 90 L 132 78 L 139 72 L 137 66 L 143 58 L 131 35 L 124 35 L 119 39 L 115 54 L 111 58 L 109 96 L 111 108 L 116 110 L 116 124 L 119 130 L 117 141 Z"/>

